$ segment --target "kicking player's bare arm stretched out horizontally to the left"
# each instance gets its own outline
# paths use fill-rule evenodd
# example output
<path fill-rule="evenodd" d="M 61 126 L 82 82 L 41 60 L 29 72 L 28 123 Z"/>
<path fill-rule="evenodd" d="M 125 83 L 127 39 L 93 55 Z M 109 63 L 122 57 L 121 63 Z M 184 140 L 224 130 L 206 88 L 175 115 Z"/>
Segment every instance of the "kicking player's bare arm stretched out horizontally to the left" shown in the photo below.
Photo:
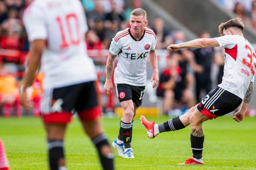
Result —
<path fill-rule="evenodd" d="M 214 38 L 200 38 L 200 39 L 194 39 L 185 43 L 180 44 L 171 44 L 167 47 L 168 51 L 178 51 L 179 49 L 185 49 L 185 48 L 193 48 L 193 49 L 199 49 L 199 48 L 205 48 L 205 47 L 218 47 L 220 46 L 218 41 Z"/>

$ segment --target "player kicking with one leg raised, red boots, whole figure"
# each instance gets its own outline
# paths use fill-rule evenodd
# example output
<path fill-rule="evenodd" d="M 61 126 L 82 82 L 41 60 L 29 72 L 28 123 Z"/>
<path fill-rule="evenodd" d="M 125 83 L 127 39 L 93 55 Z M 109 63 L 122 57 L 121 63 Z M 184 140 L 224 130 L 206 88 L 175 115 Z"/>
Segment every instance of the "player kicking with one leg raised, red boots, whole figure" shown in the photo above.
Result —
<path fill-rule="evenodd" d="M 182 164 L 204 164 L 204 132 L 202 123 L 234 111 L 242 103 L 233 119 L 240 122 L 248 109 L 253 91 L 255 77 L 256 54 L 252 45 L 243 36 L 244 24 L 239 18 L 231 19 L 219 25 L 222 37 L 195 39 L 180 44 L 172 44 L 168 51 L 183 48 L 225 47 L 224 76 L 222 83 L 210 91 L 199 104 L 187 113 L 170 119 L 162 124 L 150 123 L 141 116 L 141 121 L 148 136 L 154 138 L 164 131 L 176 131 L 190 125 L 191 149 L 193 158 Z"/>

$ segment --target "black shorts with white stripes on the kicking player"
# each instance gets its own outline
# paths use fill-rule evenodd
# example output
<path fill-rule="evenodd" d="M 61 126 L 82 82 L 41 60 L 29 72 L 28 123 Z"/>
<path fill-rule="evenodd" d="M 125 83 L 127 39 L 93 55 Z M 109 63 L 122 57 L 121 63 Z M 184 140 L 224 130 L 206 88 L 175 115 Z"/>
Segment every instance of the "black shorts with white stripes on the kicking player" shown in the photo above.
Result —
<path fill-rule="evenodd" d="M 209 119 L 215 119 L 234 111 L 241 102 L 238 96 L 217 87 L 202 98 L 197 109 Z"/>

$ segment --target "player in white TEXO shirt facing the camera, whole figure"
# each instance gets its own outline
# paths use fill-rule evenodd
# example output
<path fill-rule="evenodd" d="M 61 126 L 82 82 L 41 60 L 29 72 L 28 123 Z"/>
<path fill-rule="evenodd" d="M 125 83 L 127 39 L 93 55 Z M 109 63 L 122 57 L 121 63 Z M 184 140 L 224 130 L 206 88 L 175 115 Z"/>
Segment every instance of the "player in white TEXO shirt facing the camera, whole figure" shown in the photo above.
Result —
<path fill-rule="evenodd" d="M 120 31 L 112 39 L 106 65 L 106 82 L 104 89 L 110 94 L 113 89 L 111 82 L 113 63 L 118 56 L 114 71 L 116 95 L 123 111 L 118 138 L 112 146 L 124 158 L 134 158 L 131 148 L 132 124 L 136 109 L 142 104 L 146 85 L 146 65 L 149 58 L 153 69 L 151 81 L 153 88 L 158 84 L 158 67 L 155 52 L 156 35 L 146 27 L 146 11 L 137 8 L 131 12 L 130 28 Z"/>

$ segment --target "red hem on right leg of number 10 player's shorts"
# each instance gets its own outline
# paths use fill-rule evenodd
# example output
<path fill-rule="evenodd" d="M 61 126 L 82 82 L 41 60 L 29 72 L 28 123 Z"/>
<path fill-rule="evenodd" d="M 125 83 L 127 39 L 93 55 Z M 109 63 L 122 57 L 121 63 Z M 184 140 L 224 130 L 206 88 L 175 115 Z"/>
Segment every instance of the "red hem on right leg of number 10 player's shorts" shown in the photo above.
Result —
<path fill-rule="evenodd" d="M 78 115 L 82 121 L 92 121 L 101 116 L 100 107 L 79 111 Z"/>

